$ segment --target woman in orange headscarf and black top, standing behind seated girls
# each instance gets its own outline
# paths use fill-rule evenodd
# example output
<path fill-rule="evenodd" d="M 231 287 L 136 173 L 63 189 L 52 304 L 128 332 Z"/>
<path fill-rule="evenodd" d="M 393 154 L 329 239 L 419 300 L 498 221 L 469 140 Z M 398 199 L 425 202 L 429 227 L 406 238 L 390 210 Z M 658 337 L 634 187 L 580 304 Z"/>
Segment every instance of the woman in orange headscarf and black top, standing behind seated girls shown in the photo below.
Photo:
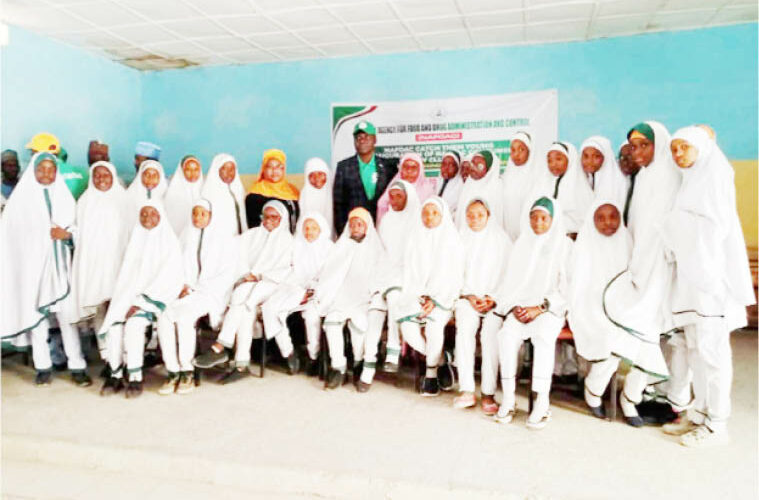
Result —
<path fill-rule="evenodd" d="M 245 197 L 245 212 L 248 217 L 248 227 L 261 225 L 261 211 L 263 206 L 270 200 L 277 200 L 287 208 L 290 214 L 290 232 L 295 232 L 295 223 L 298 221 L 298 188 L 287 182 L 285 177 L 287 170 L 287 156 L 279 149 L 267 149 L 264 151 L 261 171 L 258 179 L 250 187 L 248 196 Z"/>

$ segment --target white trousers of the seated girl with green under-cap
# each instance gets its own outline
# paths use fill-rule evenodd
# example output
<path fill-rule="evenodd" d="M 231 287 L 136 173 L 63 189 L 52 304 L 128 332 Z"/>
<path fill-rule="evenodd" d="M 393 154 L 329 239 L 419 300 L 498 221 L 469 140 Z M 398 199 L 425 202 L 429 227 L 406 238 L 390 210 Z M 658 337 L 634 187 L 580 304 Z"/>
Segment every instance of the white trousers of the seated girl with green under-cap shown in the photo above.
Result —
<path fill-rule="evenodd" d="M 503 391 L 516 390 L 516 376 L 519 363 L 519 349 L 524 340 L 530 339 L 533 345 L 532 390 L 548 394 L 551 391 L 551 376 L 556 338 L 564 326 L 564 318 L 551 313 L 543 313 L 530 323 L 520 323 L 513 314 L 509 314 L 498 332 L 499 360 L 501 362 L 501 380 Z"/>

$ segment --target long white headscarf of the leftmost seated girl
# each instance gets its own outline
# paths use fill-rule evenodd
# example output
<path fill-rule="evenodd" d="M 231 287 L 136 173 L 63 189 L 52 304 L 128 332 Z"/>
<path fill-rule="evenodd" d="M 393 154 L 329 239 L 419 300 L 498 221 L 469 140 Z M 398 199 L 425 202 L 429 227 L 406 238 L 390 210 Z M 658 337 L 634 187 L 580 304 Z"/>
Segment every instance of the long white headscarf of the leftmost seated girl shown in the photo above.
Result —
<path fill-rule="evenodd" d="M 185 278 L 182 250 L 163 203 L 160 200 L 145 201 L 137 209 L 138 213 L 143 207 L 158 210 L 161 220 L 153 229 L 144 228 L 139 221 L 132 229 L 99 335 L 105 335 L 109 328 L 126 321 L 126 314 L 132 306 L 147 313 L 160 314 L 182 291 Z"/>

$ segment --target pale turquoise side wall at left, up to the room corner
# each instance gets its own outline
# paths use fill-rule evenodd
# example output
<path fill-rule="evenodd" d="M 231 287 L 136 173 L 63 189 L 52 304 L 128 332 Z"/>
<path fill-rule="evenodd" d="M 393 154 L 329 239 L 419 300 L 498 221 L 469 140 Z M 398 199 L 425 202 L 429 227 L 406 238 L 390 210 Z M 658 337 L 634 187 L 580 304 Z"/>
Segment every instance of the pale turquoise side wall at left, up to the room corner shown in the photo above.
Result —
<path fill-rule="evenodd" d="M 69 153 L 69 163 L 87 165 L 91 139 L 110 145 L 121 172 L 140 130 L 142 74 L 102 57 L 11 27 L 0 52 L 0 144 L 19 152 L 38 132 L 50 132 Z"/>

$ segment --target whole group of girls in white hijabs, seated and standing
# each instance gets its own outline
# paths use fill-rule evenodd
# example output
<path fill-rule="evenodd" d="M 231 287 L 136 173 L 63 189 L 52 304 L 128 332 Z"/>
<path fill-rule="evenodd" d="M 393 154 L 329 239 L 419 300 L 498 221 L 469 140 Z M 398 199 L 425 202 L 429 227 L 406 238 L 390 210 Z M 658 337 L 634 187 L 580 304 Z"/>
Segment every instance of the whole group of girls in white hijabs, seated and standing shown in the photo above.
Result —
<path fill-rule="evenodd" d="M 230 362 L 223 380 L 243 376 L 256 335 L 275 339 L 297 372 L 287 318 L 300 313 L 309 371 L 326 347 L 327 387 L 340 386 L 350 369 L 366 392 L 387 323 L 385 370 L 398 369 L 403 341 L 425 360 L 421 392 L 429 396 L 452 388 L 443 344 L 455 318 L 454 406 L 476 405 L 479 331 L 482 410 L 513 421 L 518 355 L 529 339 L 536 397 L 527 425 L 540 429 L 551 419 L 554 346 L 568 320 L 591 365 L 584 392 L 593 415 L 605 416 L 602 395 L 624 361 L 627 423 L 643 425 L 636 405 L 646 386 L 670 378 L 667 397 L 680 418 L 665 431 L 688 446 L 724 442 L 729 332 L 745 325 L 754 295 L 733 171 L 709 132 L 693 126 L 670 137 L 658 122 L 636 125 L 627 136 L 640 168 L 634 181 L 601 136 L 579 151 L 555 142 L 540 158 L 519 132 L 502 174 L 493 151 L 449 151 L 437 182 L 426 178 L 420 155 L 407 153 L 380 198 L 376 228 L 357 208 L 340 235 L 331 170 L 318 158 L 305 165 L 293 236 L 277 200 L 263 206 L 259 227 L 247 228 L 244 189 L 227 154 L 214 157 L 205 177 L 187 156 L 169 182 L 160 163 L 147 160 L 126 190 L 113 165 L 97 162 L 77 205 L 55 157 L 39 153 L 0 225 L 0 333 L 32 346 L 37 383 L 47 384 L 47 332 L 56 319 L 74 381 L 89 385 L 72 324 L 94 318 L 109 368 L 102 393 L 126 386 L 133 396 L 154 323 L 168 372 L 159 392 L 170 394 L 192 390 L 196 367 Z M 195 323 L 206 315 L 220 333 L 195 357 Z"/>

